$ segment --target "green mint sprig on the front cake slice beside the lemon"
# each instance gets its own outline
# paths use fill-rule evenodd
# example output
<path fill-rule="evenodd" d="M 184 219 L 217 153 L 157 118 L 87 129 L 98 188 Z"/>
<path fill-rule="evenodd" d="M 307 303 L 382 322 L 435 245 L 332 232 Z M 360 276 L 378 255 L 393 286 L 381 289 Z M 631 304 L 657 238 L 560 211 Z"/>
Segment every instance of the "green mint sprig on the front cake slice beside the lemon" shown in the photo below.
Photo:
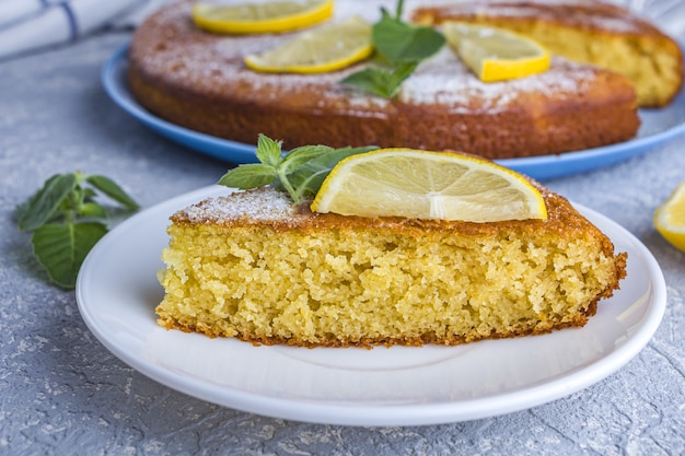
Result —
<path fill-rule="evenodd" d="M 259 163 L 242 164 L 229 169 L 219 185 L 242 190 L 272 185 L 287 191 L 294 202 L 301 202 L 303 198 L 316 195 L 330 169 L 340 160 L 374 149 L 378 148 L 303 145 L 282 154 L 281 141 L 259 135 L 256 149 Z"/>

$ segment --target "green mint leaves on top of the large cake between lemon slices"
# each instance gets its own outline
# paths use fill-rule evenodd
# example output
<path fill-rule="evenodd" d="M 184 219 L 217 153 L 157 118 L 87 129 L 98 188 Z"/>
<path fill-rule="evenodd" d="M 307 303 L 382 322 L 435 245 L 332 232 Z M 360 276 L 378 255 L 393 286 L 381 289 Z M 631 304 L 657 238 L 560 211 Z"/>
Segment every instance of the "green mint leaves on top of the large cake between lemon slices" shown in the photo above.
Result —
<path fill-rule="evenodd" d="M 444 45 L 444 36 L 434 28 L 402 21 L 403 3 L 398 0 L 395 15 L 382 8 L 382 17 L 373 25 L 371 39 L 378 65 L 348 75 L 341 83 L 392 98 L 418 65 Z"/>

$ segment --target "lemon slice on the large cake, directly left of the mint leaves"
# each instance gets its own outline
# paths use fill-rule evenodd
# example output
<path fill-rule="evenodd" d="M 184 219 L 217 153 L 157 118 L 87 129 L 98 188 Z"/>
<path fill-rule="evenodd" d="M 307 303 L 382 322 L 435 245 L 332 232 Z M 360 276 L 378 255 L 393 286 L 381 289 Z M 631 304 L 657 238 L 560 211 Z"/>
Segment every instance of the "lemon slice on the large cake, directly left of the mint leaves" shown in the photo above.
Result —
<path fill-rule="evenodd" d="M 323 73 L 339 70 L 373 52 L 371 24 L 360 17 L 302 32 L 281 46 L 245 57 L 255 71 Z"/>

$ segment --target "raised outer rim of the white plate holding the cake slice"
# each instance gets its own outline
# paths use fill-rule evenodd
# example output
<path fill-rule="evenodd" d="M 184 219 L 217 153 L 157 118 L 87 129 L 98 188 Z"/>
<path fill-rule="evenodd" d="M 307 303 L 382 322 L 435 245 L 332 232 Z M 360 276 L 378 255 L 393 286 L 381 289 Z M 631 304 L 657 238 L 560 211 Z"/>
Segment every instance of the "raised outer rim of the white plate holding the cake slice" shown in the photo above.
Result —
<path fill-rule="evenodd" d="M 189 201 L 210 197 L 220 190 L 225 191 L 227 189 L 225 187 L 213 185 L 170 198 L 144 209 L 116 226 L 101 239 L 83 262 L 77 280 L 76 297 L 79 312 L 91 332 L 119 360 L 162 385 L 223 407 L 302 422 L 365 426 L 426 425 L 496 417 L 567 397 L 606 378 L 627 364 L 649 343 L 665 312 L 666 287 L 663 273 L 649 249 L 635 235 L 616 222 L 590 208 L 574 203 L 573 206 L 585 217 L 601 220 L 603 224 L 606 223 L 607 226 L 617 230 L 624 236 L 625 242 L 638 250 L 640 254 L 638 257 L 643 259 L 643 266 L 649 271 L 648 281 L 651 285 L 650 293 L 652 297 L 647 303 L 649 308 L 646 309 L 645 316 L 640 324 L 637 325 L 637 330 L 630 336 L 628 341 L 611 353 L 603 355 L 596 362 L 532 387 L 522 387 L 513 391 L 494 394 L 472 400 L 423 405 L 360 406 L 359 404 L 320 404 L 321 401 L 274 398 L 249 391 L 234 390 L 230 387 L 211 384 L 208 381 L 198 383 L 197 378 L 189 381 L 187 375 L 183 375 L 183 373 L 172 372 L 169 369 L 154 365 L 143 360 L 140 353 L 135 355 L 123 347 L 117 346 L 111 335 L 102 330 L 100 323 L 96 321 L 96 316 L 92 315 L 93 308 L 89 305 L 91 292 L 88 284 L 90 283 L 90 274 L 92 274 L 93 268 L 96 268 L 100 252 L 106 249 L 109 244 L 115 243 L 120 236 L 119 233 L 125 233 L 138 223 L 150 223 L 155 217 L 161 217 L 156 212 L 164 211 L 164 213 L 171 214 L 173 212 L 171 208 L 179 208 Z M 164 235 L 164 233 L 160 233 L 160 235 Z M 154 277 L 154 273 L 152 276 Z M 151 317 L 150 327 L 156 327 L 153 317 Z M 597 374 L 595 371 L 601 373 Z M 218 396 L 221 397 L 218 398 Z"/>

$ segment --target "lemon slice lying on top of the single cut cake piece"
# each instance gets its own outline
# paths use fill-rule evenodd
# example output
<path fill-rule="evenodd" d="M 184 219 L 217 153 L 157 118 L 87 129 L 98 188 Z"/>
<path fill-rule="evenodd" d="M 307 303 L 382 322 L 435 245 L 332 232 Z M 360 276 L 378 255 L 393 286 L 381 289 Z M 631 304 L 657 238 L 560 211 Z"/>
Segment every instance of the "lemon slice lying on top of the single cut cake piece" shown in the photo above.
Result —
<path fill-rule="evenodd" d="M 311 206 L 360 217 L 496 222 L 546 219 L 541 192 L 492 162 L 446 152 L 381 149 L 338 163 Z"/>

